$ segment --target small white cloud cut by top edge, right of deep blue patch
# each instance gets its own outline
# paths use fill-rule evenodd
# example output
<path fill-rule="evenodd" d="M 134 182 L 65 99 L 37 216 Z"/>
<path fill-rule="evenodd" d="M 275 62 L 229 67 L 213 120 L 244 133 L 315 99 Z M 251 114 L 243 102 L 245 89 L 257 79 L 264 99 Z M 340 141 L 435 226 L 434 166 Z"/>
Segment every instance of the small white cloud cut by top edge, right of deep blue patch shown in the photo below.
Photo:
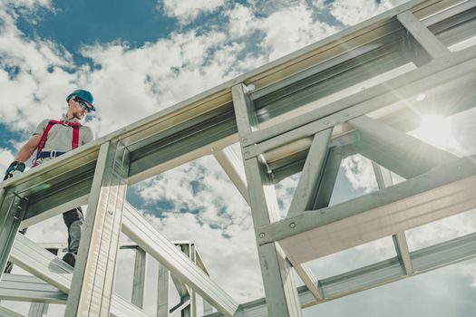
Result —
<path fill-rule="evenodd" d="M 225 0 L 163 0 L 165 14 L 177 17 L 181 24 L 189 24 L 200 14 L 210 14 L 222 5 Z"/>

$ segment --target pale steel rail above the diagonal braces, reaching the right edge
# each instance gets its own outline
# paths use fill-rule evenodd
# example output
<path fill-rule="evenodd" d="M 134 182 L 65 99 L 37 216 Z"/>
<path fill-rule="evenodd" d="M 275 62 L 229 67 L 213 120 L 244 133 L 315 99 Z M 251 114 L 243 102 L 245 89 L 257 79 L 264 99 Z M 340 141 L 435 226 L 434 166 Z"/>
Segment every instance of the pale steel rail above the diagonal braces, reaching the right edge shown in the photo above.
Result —
<path fill-rule="evenodd" d="M 311 110 L 284 123 L 249 132 L 242 137 L 248 140 L 249 145 L 245 150 L 245 159 L 256 157 L 296 139 L 309 137 L 318 131 L 382 108 L 383 105 L 402 101 L 452 80 L 468 81 L 475 69 L 476 53 L 472 48 L 435 59 L 390 81 Z M 463 78 L 465 75 L 470 77 Z"/>

